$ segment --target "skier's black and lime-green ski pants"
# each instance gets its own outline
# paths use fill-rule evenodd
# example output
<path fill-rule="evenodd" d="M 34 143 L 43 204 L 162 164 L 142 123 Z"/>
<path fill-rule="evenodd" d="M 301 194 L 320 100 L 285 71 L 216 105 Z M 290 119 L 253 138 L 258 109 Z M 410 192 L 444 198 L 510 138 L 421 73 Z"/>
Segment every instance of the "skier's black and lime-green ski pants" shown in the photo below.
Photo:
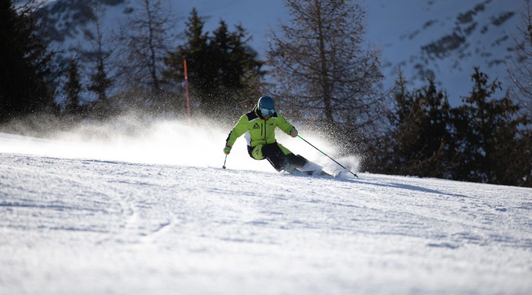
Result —
<path fill-rule="evenodd" d="M 248 145 L 247 152 L 250 154 L 250 157 L 255 160 L 267 159 L 271 166 L 277 171 L 285 169 L 287 165 L 294 166 L 295 168 L 302 168 L 307 162 L 309 162 L 309 160 L 303 158 L 301 155 L 295 155 L 283 146 L 283 149 L 288 152 L 285 154 L 279 145 L 280 144 L 277 142 L 257 145 L 254 147 Z M 260 157 L 261 154 L 262 157 Z"/>

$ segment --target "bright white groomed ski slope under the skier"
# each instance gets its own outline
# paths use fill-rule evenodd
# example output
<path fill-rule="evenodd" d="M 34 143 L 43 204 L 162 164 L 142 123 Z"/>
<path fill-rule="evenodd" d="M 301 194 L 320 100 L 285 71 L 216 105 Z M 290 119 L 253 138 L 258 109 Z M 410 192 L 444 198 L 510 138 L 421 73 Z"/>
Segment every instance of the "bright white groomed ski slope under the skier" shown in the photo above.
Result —
<path fill-rule="evenodd" d="M 530 188 L 297 177 L 241 139 L 221 169 L 221 131 L 155 149 L 191 128 L 0 134 L 0 294 L 532 293 Z"/>

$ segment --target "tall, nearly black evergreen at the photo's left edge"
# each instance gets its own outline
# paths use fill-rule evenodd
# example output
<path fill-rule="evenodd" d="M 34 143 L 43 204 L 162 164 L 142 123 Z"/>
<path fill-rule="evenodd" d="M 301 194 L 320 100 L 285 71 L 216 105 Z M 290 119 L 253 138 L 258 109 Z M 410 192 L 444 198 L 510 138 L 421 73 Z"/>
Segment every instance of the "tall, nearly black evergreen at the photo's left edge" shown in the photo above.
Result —
<path fill-rule="evenodd" d="M 53 54 L 39 35 L 32 7 L 15 9 L 11 0 L 0 0 L 0 122 L 57 110 L 46 83 Z"/>

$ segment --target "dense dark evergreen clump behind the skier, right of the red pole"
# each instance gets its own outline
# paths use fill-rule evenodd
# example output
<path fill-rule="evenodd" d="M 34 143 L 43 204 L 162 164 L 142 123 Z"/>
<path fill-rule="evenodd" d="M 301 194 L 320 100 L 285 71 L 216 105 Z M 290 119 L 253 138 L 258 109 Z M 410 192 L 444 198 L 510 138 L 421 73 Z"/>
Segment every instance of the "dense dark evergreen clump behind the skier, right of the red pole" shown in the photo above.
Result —
<path fill-rule="evenodd" d="M 184 81 L 183 59 L 187 60 L 191 99 L 209 116 L 228 118 L 251 107 L 259 95 L 263 65 L 257 53 L 247 45 L 250 38 L 240 25 L 229 31 L 220 21 L 213 36 L 203 32 L 204 22 L 195 9 L 185 30 L 186 42 L 165 59 L 165 77 Z M 250 100 L 250 97 L 252 99 Z"/>

